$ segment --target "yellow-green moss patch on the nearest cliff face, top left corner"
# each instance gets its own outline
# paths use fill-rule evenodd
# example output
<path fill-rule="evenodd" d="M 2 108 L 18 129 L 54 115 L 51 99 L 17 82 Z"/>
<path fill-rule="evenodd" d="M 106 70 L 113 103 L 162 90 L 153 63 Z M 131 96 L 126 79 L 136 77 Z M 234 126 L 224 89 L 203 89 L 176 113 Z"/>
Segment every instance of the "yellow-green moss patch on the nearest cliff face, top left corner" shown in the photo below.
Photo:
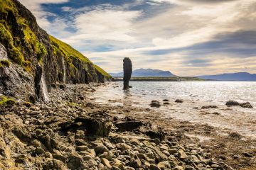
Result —
<path fill-rule="evenodd" d="M 18 26 L 7 22 L 10 13 Z M 16 29 L 21 31 L 18 37 L 11 32 L 11 28 L 14 27 L 18 27 Z M 31 72 L 32 69 L 31 61 L 33 59 L 31 57 L 36 55 L 38 62 L 41 62 L 47 53 L 46 48 L 29 28 L 26 18 L 22 18 L 18 14 L 14 2 L 11 0 L 0 0 L 0 42 L 6 47 L 9 58 L 21 65 L 27 72 Z"/>

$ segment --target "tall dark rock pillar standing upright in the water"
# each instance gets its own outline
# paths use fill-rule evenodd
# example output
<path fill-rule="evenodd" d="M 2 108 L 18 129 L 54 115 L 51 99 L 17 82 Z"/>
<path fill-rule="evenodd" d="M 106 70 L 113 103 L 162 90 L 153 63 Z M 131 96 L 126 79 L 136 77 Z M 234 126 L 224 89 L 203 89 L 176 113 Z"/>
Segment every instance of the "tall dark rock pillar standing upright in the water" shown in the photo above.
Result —
<path fill-rule="evenodd" d="M 124 60 L 124 90 L 129 89 L 129 80 L 132 77 L 132 61 L 125 57 Z"/>

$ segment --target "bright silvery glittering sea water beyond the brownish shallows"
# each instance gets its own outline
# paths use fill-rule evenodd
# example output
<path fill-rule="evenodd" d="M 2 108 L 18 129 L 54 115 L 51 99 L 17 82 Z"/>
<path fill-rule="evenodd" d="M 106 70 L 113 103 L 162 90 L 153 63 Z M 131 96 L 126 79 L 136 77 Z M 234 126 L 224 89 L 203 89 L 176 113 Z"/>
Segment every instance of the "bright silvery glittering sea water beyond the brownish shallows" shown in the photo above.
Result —
<path fill-rule="evenodd" d="M 234 100 L 250 102 L 256 108 L 255 81 L 131 81 L 129 84 L 132 89 L 127 92 L 122 91 L 122 82 L 114 84 L 115 88 L 107 86 L 102 89 L 104 93 L 98 96 L 99 101 L 130 98 L 134 101 L 139 100 L 144 105 L 145 101 L 164 98 L 210 101 L 216 104 L 225 104 L 228 100 Z"/>

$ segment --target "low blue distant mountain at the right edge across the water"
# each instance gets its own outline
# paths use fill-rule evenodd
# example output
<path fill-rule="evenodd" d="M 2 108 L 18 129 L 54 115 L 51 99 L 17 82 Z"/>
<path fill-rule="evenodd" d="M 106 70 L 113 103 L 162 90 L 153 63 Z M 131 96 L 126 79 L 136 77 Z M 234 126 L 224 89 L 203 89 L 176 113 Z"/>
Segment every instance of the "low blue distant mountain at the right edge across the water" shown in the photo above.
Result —
<path fill-rule="evenodd" d="M 206 75 L 197 76 L 201 79 L 212 79 L 220 81 L 256 81 L 256 74 L 250 74 L 247 72 L 238 72 L 230 74 L 217 74 L 217 75 Z"/>

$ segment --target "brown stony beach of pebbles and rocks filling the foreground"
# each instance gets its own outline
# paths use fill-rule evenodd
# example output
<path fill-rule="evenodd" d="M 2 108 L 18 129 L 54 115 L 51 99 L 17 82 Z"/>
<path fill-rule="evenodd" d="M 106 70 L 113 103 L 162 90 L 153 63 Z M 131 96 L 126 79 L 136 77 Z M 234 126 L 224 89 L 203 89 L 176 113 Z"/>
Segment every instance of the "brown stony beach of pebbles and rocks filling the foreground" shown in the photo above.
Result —
<path fill-rule="evenodd" d="M 234 143 L 233 147 L 242 146 L 238 135 L 233 134 L 237 138 L 231 140 L 216 137 L 222 145 L 216 146 L 220 143 L 215 141 L 202 144 L 184 135 L 195 130 L 191 123 L 161 119 L 150 109 L 93 102 L 88 96 L 97 86 L 68 85 L 54 89 L 48 103 L 19 101 L 16 106 L 0 108 L 0 169 L 255 167 L 255 152 L 235 155 L 227 151 L 234 149 Z M 152 115 L 135 114 L 138 112 Z M 198 130 L 214 131 L 207 125 L 198 126 Z M 236 142 L 228 143 L 234 139 Z M 232 162 L 235 159 L 230 157 L 249 165 Z"/>

